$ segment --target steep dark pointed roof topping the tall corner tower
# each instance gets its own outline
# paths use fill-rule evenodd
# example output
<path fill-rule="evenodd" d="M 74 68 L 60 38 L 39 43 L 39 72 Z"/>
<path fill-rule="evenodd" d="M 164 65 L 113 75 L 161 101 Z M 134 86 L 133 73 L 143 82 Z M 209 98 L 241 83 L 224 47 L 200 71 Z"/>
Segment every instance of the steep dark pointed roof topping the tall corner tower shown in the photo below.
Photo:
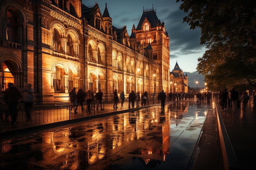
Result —
<path fill-rule="evenodd" d="M 156 15 L 154 9 L 150 9 L 150 10 L 143 9 L 143 14 L 139 20 L 139 24 L 138 24 L 136 30 L 141 30 L 141 26 L 146 18 L 147 18 L 148 22 L 150 23 L 151 28 L 155 28 L 157 26 L 157 24 L 159 24 L 159 20 L 157 18 L 157 15 Z"/>

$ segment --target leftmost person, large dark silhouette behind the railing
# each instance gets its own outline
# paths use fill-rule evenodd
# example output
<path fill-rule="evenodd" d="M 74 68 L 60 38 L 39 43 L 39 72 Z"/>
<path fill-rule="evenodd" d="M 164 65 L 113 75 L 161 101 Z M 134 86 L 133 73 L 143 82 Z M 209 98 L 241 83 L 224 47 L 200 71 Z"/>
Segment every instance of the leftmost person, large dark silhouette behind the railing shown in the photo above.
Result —
<path fill-rule="evenodd" d="M 18 102 L 22 95 L 20 90 L 14 86 L 13 83 L 8 83 L 8 88 L 4 91 L 4 100 L 9 108 L 9 113 L 11 115 L 11 125 L 16 124 L 16 118 L 18 115 Z"/>

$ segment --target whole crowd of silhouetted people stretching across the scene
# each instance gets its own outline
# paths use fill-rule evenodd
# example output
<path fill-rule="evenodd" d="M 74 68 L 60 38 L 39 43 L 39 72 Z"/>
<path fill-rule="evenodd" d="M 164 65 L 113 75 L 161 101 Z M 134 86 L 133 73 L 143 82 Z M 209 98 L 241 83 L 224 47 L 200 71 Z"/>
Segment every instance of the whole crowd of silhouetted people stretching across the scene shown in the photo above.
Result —
<path fill-rule="evenodd" d="M 135 102 L 138 106 L 148 106 L 149 105 L 149 98 L 152 98 L 154 102 L 155 93 L 150 95 L 147 91 L 140 94 L 140 92 L 135 93 L 134 91 L 131 91 L 131 93 L 128 95 L 129 100 L 129 108 L 131 104 L 131 108 L 135 108 Z M 119 102 L 119 97 L 121 99 L 121 108 L 123 107 L 124 100 L 126 99 L 124 91 L 122 91 L 119 95 L 117 93 L 117 89 L 113 92 L 114 96 L 114 105 L 113 108 L 118 108 L 117 103 Z M 233 88 L 230 91 L 227 91 L 227 89 L 223 89 L 219 91 L 218 93 L 211 93 L 211 92 L 190 92 L 190 93 L 165 93 L 164 90 L 157 93 L 157 99 L 158 103 L 161 103 L 161 109 L 164 109 L 164 104 L 166 102 L 175 102 L 175 101 L 182 101 L 187 99 L 194 99 L 196 96 L 197 103 L 200 104 L 204 101 L 207 103 L 210 102 L 212 96 L 218 97 L 218 101 L 220 105 L 222 106 L 222 111 L 226 111 L 227 106 L 232 107 L 233 113 L 236 112 L 237 107 L 240 107 L 240 102 L 242 102 L 242 110 L 246 110 L 246 106 L 248 103 L 248 100 L 250 99 L 250 96 L 246 91 L 243 91 L 242 95 L 238 95 L 238 92 Z M 252 94 L 253 102 L 255 104 L 256 102 L 256 93 L 255 90 Z M 97 101 L 97 110 L 100 109 L 104 110 L 102 107 L 102 99 L 103 99 L 103 93 L 101 92 L 101 89 L 98 90 L 98 92 L 94 95 L 91 88 L 89 88 L 87 91 L 85 91 L 82 88 L 79 88 L 79 90 L 76 93 L 76 88 L 72 88 L 69 92 L 69 98 L 70 98 L 70 105 L 71 110 L 74 109 L 74 113 L 77 112 L 77 108 L 80 105 L 81 110 L 84 111 L 85 108 L 83 108 L 83 103 L 86 101 L 87 109 L 86 112 L 90 113 L 92 109 L 92 102 Z M 32 84 L 25 85 L 25 88 L 20 91 L 18 88 L 14 86 L 13 83 L 8 84 L 8 88 L 4 92 L 4 103 L 9 108 L 9 113 L 11 115 L 11 124 L 16 124 L 16 117 L 17 117 L 17 108 L 18 104 L 22 101 L 25 106 L 25 112 L 27 115 L 27 119 L 31 119 L 31 107 L 35 102 L 35 95 L 32 88 Z"/>

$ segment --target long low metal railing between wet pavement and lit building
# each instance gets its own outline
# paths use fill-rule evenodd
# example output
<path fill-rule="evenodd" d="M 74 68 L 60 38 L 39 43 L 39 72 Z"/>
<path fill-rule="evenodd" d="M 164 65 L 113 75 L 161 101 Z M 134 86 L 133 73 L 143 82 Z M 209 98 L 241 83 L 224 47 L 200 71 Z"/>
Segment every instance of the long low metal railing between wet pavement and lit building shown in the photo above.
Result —
<path fill-rule="evenodd" d="M 166 97 L 166 102 L 170 102 L 168 97 Z M 149 98 L 144 104 L 144 100 L 135 101 L 135 108 L 151 106 L 155 104 L 160 104 L 161 102 L 157 98 Z M 30 117 L 27 117 L 26 110 L 23 106 L 17 108 L 16 124 L 11 124 L 11 115 L 9 109 L 0 109 L 0 133 L 9 132 L 13 130 L 31 128 L 35 126 L 41 126 L 45 124 L 52 124 L 61 121 L 70 121 L 74 119 L 79 119 L 83 117 L 91 117 L 95 115 L 102 115 L 106 113 L 117 113 L 120 111 L 126 111 L 132 109 L 131 102 L 126 99 L 123 106 L 121 106 L 121 101 L 117 102 L 117 108 L 115 107 L 115 102 L 102 102 L 101 106 L 98 102 L 92 102 L 90 104 L 91 112 L 88 112 L 88 104 L 83 103 L 83 108 L 81 105 L 70 105 L 70 104 L 55 104 L 51 106 L 32 106 L 30 109 Z M 77 113 L 75 113 L 75 108 L 77 107 Z M 102 109 L 101 109 L 102 108 Z"/>

